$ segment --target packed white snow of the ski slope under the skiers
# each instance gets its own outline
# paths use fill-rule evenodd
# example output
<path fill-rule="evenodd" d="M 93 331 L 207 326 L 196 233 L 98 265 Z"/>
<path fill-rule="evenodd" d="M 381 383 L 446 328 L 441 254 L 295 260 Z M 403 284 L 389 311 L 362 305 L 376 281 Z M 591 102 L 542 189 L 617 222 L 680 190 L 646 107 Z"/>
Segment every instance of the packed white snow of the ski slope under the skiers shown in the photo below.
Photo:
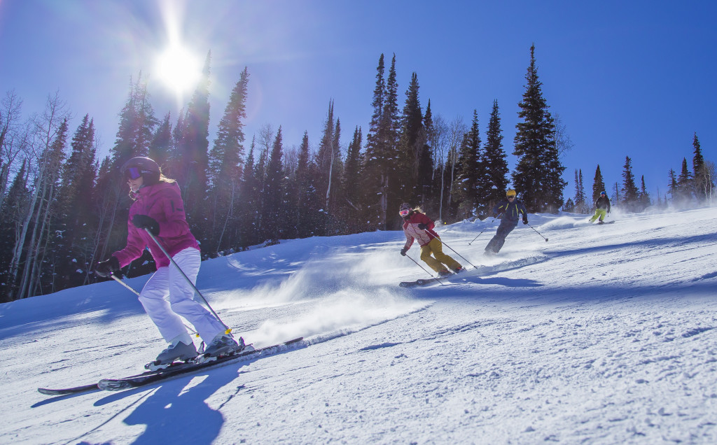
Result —
<path fill-rule="evenodd" d="M 614 213 L 531 215 L 497 257 L 498 221 L 442 226 L 469 270 L 411 289 L 428 274 L 401 231 L 203 262 L 235 335 L 305 340 L 116 393 L 37 388 L 141 372 L 164 343 L 135 295 L 110 281 L 0 305 L 0 443 L 715 444 L 717 209 Z"/>

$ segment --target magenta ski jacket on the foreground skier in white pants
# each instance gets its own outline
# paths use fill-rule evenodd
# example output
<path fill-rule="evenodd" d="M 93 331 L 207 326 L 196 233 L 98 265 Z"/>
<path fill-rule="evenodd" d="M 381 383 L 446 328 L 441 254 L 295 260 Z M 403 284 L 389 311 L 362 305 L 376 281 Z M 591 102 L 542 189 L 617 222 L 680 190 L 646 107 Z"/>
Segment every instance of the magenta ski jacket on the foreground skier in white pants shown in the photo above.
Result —
<path fill-rule="evenodd" d="M 137 200 L 130 206 L 127 247 L 113 253 L 119 260 L 120 267 L 125 267 L 133 259 L 141 257 L 145 247 L 149 247 L 157 267 L 169 265 L 169 259 L 152 241 L 147 231 L 137 229 L 132 224 L 132 218 L 137 214 L 148 215 L 157 220 L 159 236 L 156 238 L 172 257 L 187 247 L 199 250 L 199 244 L 186 223 L 184 202 L 176 182 L 160 182 L 140 188 L 136 196 Z"/>

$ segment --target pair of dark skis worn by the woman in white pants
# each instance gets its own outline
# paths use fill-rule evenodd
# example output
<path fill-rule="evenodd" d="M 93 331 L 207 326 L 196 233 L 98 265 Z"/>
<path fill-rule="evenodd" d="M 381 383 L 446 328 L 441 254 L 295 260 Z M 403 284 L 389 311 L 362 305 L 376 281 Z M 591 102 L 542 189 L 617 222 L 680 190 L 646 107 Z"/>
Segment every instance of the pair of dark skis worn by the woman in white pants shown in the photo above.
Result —
<path fill-rule="evenodd" d="M 295 338 L 284 343 L 277 343 L 276 345 L 265 346 L 264 348 L 257 348 L 252 350 L 242 350 L 239 353 L 227 355 L 226 357 L 219 357 L 217 360 L 206 361 L 203 363 L 184 362 L 174 363 L 167 368 L 155 371 L 147 371 L 145 373 L 130 375 L 125 378 L 103 378 L 98 383 L 92 383 L 90 385 L 76 386 L 75 388 L 62 388 L 62 389 L 51 389 L 51 388 L 37 388 L 42 394 L 47 396 L 65 396 L 67 394 L 85 393 L 87 391 L 121 391 L 127 388 L 137 388 L 139 386 L 148 385 L 158 381 L 165 381 L 170 378 L 175 378 L 180 375 L 186 375 L 194 373 L 199 370 L 206 368 L 213 368 L 215 366 L 227 365 L 247 358 L 257 358 L 265 355 L 272 355 L 280 353 L 284 350 L 288 350 L 288 347 L 295 345 L 303 340 L 303 337 Z"/>

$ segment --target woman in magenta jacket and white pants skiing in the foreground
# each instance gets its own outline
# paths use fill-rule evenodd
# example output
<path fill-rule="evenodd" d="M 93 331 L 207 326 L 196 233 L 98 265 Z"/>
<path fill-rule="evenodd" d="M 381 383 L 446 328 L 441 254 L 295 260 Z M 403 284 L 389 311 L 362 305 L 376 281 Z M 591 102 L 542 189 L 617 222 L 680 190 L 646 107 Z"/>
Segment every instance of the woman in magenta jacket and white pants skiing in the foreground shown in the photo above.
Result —
<path fill-rule="evenodd" d="M 201 256 L 199 244 L 186 222 L 184 202 L 177 183 L 163 176 L 157 163 L 150 158 L 130 159 L 122 167 L 122 173 L 130 186 L 130 197 L 135 200 L 130 206 L 127 246 L 99 262 L 95 273 L 100 277 L 110 277 L 133 259 L 141 257 L 145 247 L 149 248 L 157 264 L 157 272 L 140 292 L 139 301 L 168 343 L 167 348 L 157 356 L 158 364 L 191 360 L 198 355 L 180 315 L 194 326 L 204 340 L 207 345 L 204 354 L 218 356 L 242 350 L 244 340 L 239 338 L 237 343 L 225 333 L 224 324 L 194 300 L 194 288 L 181 276 L 184 272 L 192 284 L 196 284 Z M 147 230 L 181 270 L 171 265 Z"/>

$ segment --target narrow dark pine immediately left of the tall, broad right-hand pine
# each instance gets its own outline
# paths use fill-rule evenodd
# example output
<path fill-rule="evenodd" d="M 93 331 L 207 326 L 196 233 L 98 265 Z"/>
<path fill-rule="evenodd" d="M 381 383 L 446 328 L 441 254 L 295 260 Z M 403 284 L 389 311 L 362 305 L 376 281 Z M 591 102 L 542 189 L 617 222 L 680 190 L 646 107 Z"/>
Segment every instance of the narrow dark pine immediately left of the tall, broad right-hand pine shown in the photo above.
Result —
<path fill-rule="evenodd" d="M 485 171 L 488 180 L 485 183 L 483 202 L 485 203 L 486 215 L 498 201 L 505 196 L 505 189 L 508 188 L 508 155 L 503 150 L 503 130 L 500 128 L 500 113 L 498 100 L 493 100 L 493 110 L 490 112 L 488 121 L 488 133 L 485 135 Z"/>

